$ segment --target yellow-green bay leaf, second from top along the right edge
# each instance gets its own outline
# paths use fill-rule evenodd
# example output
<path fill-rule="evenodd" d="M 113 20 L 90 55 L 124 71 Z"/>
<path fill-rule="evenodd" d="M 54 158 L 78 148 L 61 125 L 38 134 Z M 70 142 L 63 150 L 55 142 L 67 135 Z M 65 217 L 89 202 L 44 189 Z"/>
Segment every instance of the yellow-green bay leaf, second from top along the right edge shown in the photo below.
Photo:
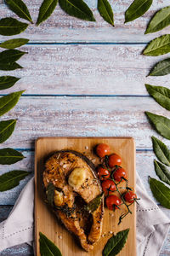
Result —
<path fill-rule="evenodd" d="M 146 46 L 144 55 L 158 56 L 170 52 L 170 34 L 155 38 Z"/>

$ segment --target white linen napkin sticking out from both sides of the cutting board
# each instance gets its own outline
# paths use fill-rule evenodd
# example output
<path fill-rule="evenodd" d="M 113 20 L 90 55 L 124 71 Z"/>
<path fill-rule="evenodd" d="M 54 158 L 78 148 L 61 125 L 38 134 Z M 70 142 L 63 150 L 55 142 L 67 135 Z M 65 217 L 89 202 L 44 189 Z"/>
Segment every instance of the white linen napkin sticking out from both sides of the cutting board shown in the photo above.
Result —
<path fill-rule="evenodd" d="M 170 219 L 147 195 L 138 175 L 136 192 L 140 198 L 137 207 L 137 254 L 138 256 L 158 256 L 167 236 Z M 34 237 L 33 211 L 34 178 L 31 178 L 8 218 L 0 223 L 0 251 L 25 242 L 31 244 Z"/>

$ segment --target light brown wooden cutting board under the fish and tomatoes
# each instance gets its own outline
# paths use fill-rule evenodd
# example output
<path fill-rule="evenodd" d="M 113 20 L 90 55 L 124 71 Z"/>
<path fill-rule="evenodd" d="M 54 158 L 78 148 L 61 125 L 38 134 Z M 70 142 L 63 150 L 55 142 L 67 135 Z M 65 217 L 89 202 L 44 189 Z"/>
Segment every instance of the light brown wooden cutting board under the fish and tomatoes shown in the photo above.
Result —
<path fill-rule="evenodd" d="M 126 246 L 119 253 L 119 256 L 135 256 L 136 255 L 136 210 L 135 205 L 131 206 L 133 214 L 128 214 L 122 220 L 122 224 L 118 224 L 118 219 L 122 210 L 116 210 L 112 213 L 105 209 L 105 217 L 103 224 L 103 236 L 94 246 L 94 250 L 86 253 L 78 246 L 76 239 L 65 230 L 65 227 L 59 223 L 46 203 L 43 201 L 44 192 L 42 190 L 40 173 L 44 168 L 44 159 L 60 149 L 73 149 L 85 154 L 91 160 L 95 161 L 93 148 L 98 143 L 107 143 L 111 147 L 111 152 L 122 156 L 122 167 L 127 170 L 128 185 L 135 189 L 135 144 L 131 137 L 40 137 L 36 142 L 35 155 L 35 241 L 36 255 L 39 252 L 39 232 L 59 247 L 63 256 L 101 256 L 106 241 L 112 236 L 110 231 L 118 232 L 130 228 Z M 94 163 L 95 164 L 95 163 Z M 124 208 L 125 210 L 125 208 Z"/>

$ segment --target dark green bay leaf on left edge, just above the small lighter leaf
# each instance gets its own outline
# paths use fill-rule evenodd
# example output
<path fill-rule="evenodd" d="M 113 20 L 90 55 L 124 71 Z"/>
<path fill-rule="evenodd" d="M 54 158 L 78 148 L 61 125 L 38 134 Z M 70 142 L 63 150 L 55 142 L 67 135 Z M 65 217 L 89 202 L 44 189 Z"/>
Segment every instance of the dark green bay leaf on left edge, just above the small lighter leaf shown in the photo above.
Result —
<path fill-rule="evenodd" d="M 3 18 L 0 20 L 0 35 L 13 36 L 25 31 L 28 24 L 14 18 Z"/>

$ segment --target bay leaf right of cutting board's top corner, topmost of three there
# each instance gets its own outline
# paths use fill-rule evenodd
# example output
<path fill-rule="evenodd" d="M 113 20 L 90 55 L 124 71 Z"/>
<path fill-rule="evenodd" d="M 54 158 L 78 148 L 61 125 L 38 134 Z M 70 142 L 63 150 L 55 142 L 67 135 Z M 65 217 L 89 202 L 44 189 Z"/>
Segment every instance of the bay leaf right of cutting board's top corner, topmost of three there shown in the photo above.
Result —
<path fill-rule="evenodd" d="M 158 138 L 151 137 L 153 150 L 158 160 L 166 166 L 170 166 L 170 150 Z"/>

